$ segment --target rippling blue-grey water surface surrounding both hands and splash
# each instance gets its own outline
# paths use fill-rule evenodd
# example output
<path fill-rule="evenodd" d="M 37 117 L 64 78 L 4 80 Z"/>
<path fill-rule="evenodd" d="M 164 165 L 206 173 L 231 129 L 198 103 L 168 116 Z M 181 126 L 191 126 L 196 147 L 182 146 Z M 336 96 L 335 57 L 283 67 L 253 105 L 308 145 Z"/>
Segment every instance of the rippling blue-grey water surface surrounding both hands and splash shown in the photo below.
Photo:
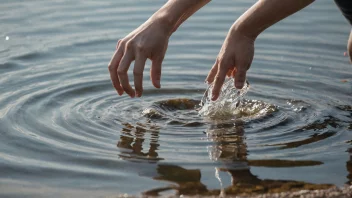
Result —
<path fill-rule="evenodd" d="M 350 26 L 332 1 L 258 38 L 251 88 L 227 121 L 196 109 L 230 25 L 253 0 L 213 1 L 183 24 L 162 89 L 146 76 L 141 99 L 113 90 L 116 41 L 164 2 L 0 1 L 1 196 L 216 195 L 242 184 L 352 181 Z"/>

